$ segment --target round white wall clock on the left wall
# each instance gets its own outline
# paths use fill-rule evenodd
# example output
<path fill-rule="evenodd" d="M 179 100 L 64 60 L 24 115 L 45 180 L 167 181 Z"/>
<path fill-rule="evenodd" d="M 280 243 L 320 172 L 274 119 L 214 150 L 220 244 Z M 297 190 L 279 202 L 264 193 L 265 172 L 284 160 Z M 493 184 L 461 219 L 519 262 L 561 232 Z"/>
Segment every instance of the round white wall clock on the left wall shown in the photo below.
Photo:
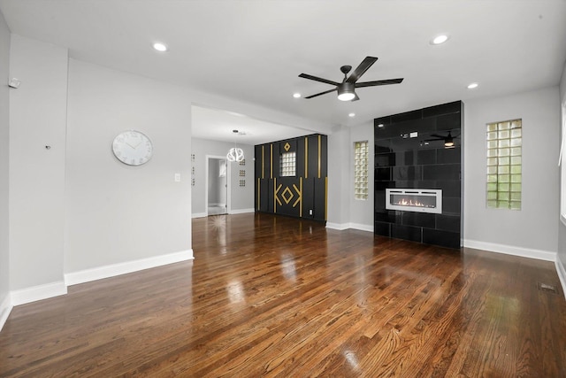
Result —
<path fill-rule="evenodd" d="M 151 158 L 153 145 L 149 138 L 139 131 L 124 131 L 114 138 L 112 151 L 122 163 L 141 166 Z"/>

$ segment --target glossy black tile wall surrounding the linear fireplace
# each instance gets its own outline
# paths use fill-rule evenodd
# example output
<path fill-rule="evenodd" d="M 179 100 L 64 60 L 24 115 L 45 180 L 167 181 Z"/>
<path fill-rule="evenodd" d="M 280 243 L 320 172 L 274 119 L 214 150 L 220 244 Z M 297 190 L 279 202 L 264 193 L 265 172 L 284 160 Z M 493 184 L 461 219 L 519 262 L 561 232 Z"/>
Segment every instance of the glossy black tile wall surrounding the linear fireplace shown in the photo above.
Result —
<path fill-rule="evenodd" d="M 374 120 L 376 235 L 461 247 L 462 126 L 461 101 Z M 430 140 L 448 132 L 454 148 Z M 387 188 L 442 189 L 442 213 L 386 210 Z"/>

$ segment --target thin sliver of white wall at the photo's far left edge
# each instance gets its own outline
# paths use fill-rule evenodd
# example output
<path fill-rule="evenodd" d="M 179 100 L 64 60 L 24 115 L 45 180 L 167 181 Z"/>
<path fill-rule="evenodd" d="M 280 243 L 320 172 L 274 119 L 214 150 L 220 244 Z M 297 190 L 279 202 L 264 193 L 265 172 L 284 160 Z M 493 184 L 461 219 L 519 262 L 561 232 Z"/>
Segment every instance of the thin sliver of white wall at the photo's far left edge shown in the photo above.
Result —
<path fill-rule="evenodd" d="M 10 30 L 0 13 L 0 78 L 7 80 L 10 68 Z M 10 95 L 0 85 L 0 329 L 10 312 L 10 250 L 8 249 L 8 164 L 10 136 Z"/>

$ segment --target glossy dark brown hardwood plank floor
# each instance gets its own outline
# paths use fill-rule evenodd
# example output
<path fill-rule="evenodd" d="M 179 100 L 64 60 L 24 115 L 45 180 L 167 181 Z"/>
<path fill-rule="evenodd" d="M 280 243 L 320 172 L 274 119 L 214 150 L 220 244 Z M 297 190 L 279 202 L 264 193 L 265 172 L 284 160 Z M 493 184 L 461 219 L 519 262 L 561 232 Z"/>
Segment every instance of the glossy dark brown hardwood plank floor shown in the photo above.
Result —
<path fill-rule="evenodd" d="M 0 376 L 566 376 L 553 263 L 268 214 L 194 220 L 193 250 L 15 307 Z"/>

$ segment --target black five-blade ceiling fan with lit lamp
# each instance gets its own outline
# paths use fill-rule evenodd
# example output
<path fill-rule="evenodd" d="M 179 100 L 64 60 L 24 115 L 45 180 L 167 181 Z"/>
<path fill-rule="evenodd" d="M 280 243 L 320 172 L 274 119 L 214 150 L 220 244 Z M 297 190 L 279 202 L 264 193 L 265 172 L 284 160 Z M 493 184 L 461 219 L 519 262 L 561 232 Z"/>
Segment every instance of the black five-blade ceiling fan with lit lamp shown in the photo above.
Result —
<path fill-rule="evenodd" d="M 340 71 L 342 73 L 344 73 L 344 79 L 342 80 L 342 82 L 330 81 L 330 80 L 319 78 L 317 76 L 310 75 L 308 73 L 301 73 L 299 75 L 299 77 L 302 77 L 304 79 L 324 82 L 326 84 L 330 84 L 330 85 L 333 85 L 333 86 L 336 87 L 334 89 L 325 90 L 324 92 L 320 92 L 320 93 L 317 93 L 316 95 L 307 96 L 307 97 L 304 97 L 304 98 L 313 98 L 313 97 L 325 95 L 326 93 L 330 93 L 330 92 L 333 92 L 334 90 L 337 90 L 339 100 L 341 100 L 341 101 L 356 101 L 356 100 L 360 99 L 360 97 L 358 97 L 356 95 L 356 91 L 355 91 L 356 88 L 375 87 L 375 86 L 378 86 L 378 85 L 399 84 L 400 82 L 403 81 L 403 79 L 401 78 L 401 79 L 388 79 L 388 80 L 379 80 L 379 81 L 357 82 L 360 79 L 360 77 L 363 75 L 363 73 L 365 73 L 368 70 L 368 68 L 370 68 L 371 65 L 373 65 L 377 60 L 378 60 L 378 58 L 365 57 L 363 59 L 362 63 L 360 63 L 360 66 L 357 66 L 357 68 L 354 70 L 354 72 L 352 74 L 349 75 L 349 77 L 348 77 L 348 73 L 352 69 L 352 66 L 341 66 Z"/>

